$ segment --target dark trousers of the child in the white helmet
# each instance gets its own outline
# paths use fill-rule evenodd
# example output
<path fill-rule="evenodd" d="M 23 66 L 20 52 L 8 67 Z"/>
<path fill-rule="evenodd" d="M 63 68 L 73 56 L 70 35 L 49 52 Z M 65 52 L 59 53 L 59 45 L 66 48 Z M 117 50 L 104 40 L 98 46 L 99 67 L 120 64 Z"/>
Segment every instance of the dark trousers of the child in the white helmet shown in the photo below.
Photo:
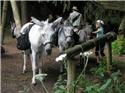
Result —
<path fill-rule="evenodd" d="M 96 56 L 105 56 L 104 54 L 105 42 L 100 41 L 96 44 L 95 55 Z"/>

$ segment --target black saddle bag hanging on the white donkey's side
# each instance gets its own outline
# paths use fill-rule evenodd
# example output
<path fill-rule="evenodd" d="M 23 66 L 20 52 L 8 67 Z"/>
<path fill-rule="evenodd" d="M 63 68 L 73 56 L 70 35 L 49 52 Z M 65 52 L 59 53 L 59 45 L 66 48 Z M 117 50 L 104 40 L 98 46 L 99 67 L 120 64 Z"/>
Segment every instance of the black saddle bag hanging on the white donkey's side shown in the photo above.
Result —
<path fill-rule="evenodd" d="M 33 25 L 30 25 L 27 29 L 25 29 L 25 33 L 21 34 L 17 38 L 17 48 L 19 50 L 27 50 L 30 49 L 30 41 L 29 41 L 29 31 Z"/>

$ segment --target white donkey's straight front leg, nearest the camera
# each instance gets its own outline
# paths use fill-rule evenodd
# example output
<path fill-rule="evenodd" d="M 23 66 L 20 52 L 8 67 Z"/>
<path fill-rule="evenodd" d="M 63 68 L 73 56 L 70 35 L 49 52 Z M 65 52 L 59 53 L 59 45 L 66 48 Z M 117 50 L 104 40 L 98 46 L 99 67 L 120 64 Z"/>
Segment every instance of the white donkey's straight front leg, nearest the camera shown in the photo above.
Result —
<path fill-rule="evenodd" d="M 36 82 L 35 82 L 35 75 L 36 75 L 36 51 L 34 51 L 34 50 L 32 50 L 32 71 L 33 71 L 32 84 L 36 84 Z"/>

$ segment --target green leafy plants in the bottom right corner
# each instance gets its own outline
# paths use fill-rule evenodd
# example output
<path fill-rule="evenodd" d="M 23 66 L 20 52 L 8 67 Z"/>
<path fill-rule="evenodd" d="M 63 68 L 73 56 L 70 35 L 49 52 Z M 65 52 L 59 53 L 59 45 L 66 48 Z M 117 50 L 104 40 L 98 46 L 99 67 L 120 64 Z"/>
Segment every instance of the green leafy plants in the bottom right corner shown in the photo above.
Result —
<path fill-rule="evenodd" d="M 122 83 L 119 75 L 120 71 L 114 72 L 101 84 L 96 83 L 87 86 L 85 89 L 85 93 L 124 93 L 125 84 Z"/>

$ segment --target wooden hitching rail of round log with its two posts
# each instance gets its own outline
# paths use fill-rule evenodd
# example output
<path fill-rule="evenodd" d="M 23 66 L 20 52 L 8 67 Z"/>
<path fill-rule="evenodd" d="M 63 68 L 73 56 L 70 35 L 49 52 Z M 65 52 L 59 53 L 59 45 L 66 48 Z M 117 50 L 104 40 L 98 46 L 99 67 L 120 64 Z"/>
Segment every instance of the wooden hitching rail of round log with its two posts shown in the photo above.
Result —
<path fill-rule="evenodd" d="M 76 45 L 72 48 L 69 48 L 64 51 L 67 54 L 67 92 L 71 93 L 73 90 L 72 82 L 75 80 L 75 63 L 70 61 L 70 58 L 78 55 L 81 51 L 85 52 L 90 50 L 96 46 L 96 44 L 100 41 L 104 41 L 107 44 L 108 52 L 107 52 L 107 71 L 110 71 L 110 64 L 112 62 L 112 47 L 111 42 L 116 40 L 117 35 L 114 32 L 109 32 L 106 35 L 89 40 L 85 43 Z"/>

